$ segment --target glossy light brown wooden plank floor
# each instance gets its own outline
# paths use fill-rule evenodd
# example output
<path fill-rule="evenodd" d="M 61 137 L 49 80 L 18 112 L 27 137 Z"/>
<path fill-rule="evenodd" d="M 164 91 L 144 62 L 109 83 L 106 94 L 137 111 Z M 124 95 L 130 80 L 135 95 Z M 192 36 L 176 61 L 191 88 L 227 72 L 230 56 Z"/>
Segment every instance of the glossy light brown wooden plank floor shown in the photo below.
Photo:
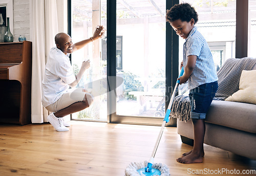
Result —
<path fill-rule="evenodd" d="M 150 158 L 160 131 L 160 126 L 70 123 L 65 132 L 55 131 L 49 123 L 0 124 L 0 175 L 124 175 L 131 162 Z M 255 175 L 242 171 L 255 170 L 256 161 L 208 145 L 204 163 L 176 162 L 191 148 L 182 144 L 175 127 L 165 127 L 155 163 L 166 164 L 170 175 Z M 233 174 L 215 174 L 223 169 Z"/>

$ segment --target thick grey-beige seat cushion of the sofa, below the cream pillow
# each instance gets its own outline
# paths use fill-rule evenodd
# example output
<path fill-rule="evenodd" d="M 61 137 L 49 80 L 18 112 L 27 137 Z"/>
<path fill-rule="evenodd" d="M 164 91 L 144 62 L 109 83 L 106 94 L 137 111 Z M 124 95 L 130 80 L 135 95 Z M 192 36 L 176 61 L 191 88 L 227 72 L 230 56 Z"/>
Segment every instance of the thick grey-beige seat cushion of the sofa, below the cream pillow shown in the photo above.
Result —
<path fill-rule="evenodd" d="M 205 122 L 256 133 L 256 104 L 213 100 Z"/>

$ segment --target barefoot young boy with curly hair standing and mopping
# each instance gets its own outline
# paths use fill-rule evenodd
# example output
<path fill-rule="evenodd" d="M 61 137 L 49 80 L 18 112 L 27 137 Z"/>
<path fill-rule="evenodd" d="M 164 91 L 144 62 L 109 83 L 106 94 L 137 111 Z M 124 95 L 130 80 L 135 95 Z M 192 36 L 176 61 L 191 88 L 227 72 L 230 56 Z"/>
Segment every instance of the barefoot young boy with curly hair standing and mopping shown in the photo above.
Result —
<path fill-rule="evenodd" d="M 205 115 L 218 89 L 218 77 L 209 46 L 197 30 L 198 14 L 187 3 L 177 4 L 166 12 L 166 20 L 177 35 L 186 39 L 183 45 L 184 74 L 180 84 L 188 81 L 191 119 L 194 129 L 193 150 L 183 153 L 180 163 L 202 163 L 204 156 Z"/>

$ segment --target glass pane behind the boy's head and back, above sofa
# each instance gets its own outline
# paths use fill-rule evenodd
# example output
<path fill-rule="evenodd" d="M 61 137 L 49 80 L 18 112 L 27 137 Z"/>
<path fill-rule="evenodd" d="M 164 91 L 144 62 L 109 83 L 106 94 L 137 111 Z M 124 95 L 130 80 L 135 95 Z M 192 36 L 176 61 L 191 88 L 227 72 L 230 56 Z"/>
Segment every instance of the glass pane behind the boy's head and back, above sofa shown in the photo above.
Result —
<path fill-rule="evenodd" d="M 196 0 L 180 1 L 195 7 L 199 20 L 196 26 L 208 42 L 215 61 L 216 70 L 228 58 L 235 57 L 236 1 Z M 180 62 L 184 39 L 180 38 Z"/>

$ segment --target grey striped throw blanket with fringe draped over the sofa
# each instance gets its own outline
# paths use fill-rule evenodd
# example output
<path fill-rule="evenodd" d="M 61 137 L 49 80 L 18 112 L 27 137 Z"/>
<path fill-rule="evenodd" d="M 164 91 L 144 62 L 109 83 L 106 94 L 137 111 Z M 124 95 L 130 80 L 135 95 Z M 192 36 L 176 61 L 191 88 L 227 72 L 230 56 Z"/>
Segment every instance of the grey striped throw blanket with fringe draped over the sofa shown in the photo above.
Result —
<path fill-rule="evenodd" d="M 217 73 L 218 90 L 214 100 L 225 100 L 239 90 L 239 81 L 243 70 L 252 70 L 256 65 L 255 58 L 227 59 Z M 170 117 L 180 121 L 190 121 L 190 102 L 188 96 L 176 96 L 170 112 Z"/>

